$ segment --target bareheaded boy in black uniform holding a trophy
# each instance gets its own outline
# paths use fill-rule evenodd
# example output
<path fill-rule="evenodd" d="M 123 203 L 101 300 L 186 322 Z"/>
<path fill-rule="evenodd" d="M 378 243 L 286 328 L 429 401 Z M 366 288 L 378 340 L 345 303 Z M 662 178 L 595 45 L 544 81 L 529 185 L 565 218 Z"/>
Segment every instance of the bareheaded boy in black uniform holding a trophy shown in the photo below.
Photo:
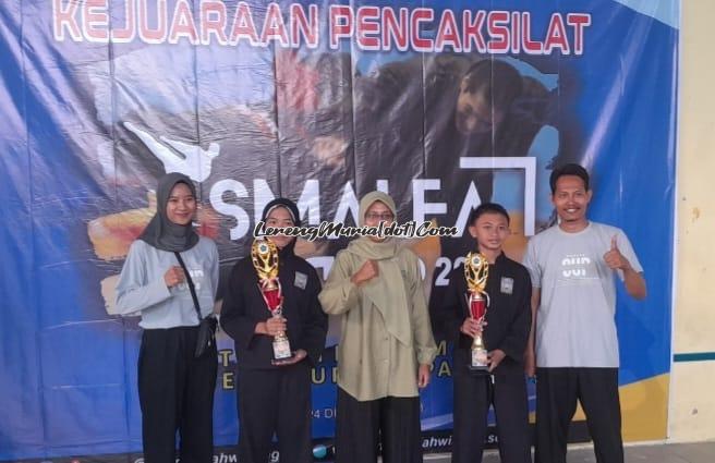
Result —
<path fill-rule="evenodd" d="M 502 463 L 530 463 L 529 403 L 523 355 L 531 327 L 531 280 L 521 265 L 501 251 L 509 235 L 509 215 L 498 204 L 484 203 L 469 217 L 469 232 L 489 263 L 488 307 L 483 326 L 470 316 L 464 268 L 449 280 L 440 318 L 448 340 L 455 342 L 455 435 L 452 462 L 482 461 L 487 413 L 494 404 Z M 471 251 L 471 249 L 468 249 Z M 466 254 L 466 251 L 464 252 Z M 470 349 L 482 331 L 488 369 L 472 371 Z"/>

